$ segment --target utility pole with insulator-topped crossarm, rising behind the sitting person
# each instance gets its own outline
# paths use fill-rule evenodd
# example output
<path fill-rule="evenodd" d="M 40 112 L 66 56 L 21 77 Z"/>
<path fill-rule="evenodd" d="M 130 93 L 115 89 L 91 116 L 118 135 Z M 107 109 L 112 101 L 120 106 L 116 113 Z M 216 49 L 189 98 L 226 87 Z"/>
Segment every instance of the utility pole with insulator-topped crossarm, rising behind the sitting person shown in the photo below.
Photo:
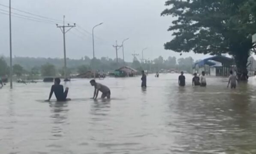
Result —
<path fill-rule="evenodd" d="M 63 26 L 59 26 L 58 24 L 57 28 L 60 28 L 61 32 L 63 33 L 63 48 L 64 48 L 64 81 L 68 81 L 67 76 L 66 76 L 66 37 L 65 34 L 71 30 L 73 27 L 75 27 L 74 25 L 69 25 L 67 24 L 67 26 L 65 26 L 65 15 L 63 15 Z M 69 28 L 68 30 L 65 30 L 65 28 Z"/>

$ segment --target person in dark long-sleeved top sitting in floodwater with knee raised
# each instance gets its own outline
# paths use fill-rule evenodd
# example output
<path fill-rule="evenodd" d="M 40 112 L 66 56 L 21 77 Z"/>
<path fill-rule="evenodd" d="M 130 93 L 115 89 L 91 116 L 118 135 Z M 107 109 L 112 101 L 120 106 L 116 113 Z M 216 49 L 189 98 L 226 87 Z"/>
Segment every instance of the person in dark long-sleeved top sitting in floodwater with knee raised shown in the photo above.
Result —
<path fill-rule="evenodd" d="M 66 88 L 65 92 L 63 92 L 63 86 L 60 85 L 60 78 L 54 79 L 54 85 L 51 86 L 51 92 L 48 101 L 50 101 L 53 92 L 57 98 L 57 101 L 67 101 L 66 96 L 69 92 L 69 88 Z"/>

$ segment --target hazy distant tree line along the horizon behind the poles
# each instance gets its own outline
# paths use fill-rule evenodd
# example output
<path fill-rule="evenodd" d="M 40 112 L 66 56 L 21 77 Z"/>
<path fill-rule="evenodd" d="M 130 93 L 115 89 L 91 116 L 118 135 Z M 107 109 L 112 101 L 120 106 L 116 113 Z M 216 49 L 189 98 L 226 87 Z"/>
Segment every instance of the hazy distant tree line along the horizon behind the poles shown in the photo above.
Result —
<path fill-rule="evenodd" d="M 8 58 L 0 57 L 1 77 L 9 75 L 8 64 Z M 30 78 L 64 75 L 63 59 L 15 57 L 13 58 L 13 64 L 13 74 L 17 77 L 21 77 L 24 74 Z M 160 71 L 161 69 L 175 69 L 191 73 L 194 64 L 195 61 L 192 57 L 176 59 L 175 56 L 169 56 L 167 59 L 164 59 L 162 56 L 159 56 L 153 60 L 146 59 L 144 62 L 139 61 L 135 57 L 133 62 L 125 63 L 122 59 L 118 59 L 117 64 L 116 59 L 102 57 L 101 59 L 94 59 L 93 61 L 93 59 L 85 56 L 81 59 L 67 59 L 67 74 L 82 74 L 93 69 L 112 72 L 124 65 L 135 68 L 138 71 L 148 70 L 152 73 Z M 256 68 L 255 60 L 253 62 L 253 68 Z"/>

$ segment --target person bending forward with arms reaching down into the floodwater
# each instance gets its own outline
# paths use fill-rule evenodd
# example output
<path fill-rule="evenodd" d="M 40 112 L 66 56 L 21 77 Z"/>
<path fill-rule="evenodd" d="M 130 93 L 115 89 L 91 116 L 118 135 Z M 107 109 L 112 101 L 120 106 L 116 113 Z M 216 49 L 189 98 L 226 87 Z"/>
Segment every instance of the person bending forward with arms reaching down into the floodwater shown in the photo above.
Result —
<path fill-rule="evenodd" d="M 91 99 L 96 100 L 98 97 L 99 91 L 102 92 L 101 98 L 107 97 L 108 99 L 110 99 L 111 92 L 107 86 L 102 85 L 100 83 L 96 83 L 95 80 L 90 80 L 90 84 L 91 84 L 91 86 L 94 86 L 93 98 L 91 98 Z"/>

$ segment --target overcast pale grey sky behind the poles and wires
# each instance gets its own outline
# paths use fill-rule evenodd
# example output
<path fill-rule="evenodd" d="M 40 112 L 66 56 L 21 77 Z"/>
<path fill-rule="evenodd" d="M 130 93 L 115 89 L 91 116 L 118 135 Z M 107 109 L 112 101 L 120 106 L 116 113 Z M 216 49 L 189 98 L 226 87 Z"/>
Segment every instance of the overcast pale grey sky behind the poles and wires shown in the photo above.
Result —
<path fill-rule="evenodd" d="M 132 61 L 132 53 L 145 50 L 145 59 L 163 56 L 187 57 L 202 59 L 204 56 L 194 53 L 175 53 L 164 50 L 163 44 L 172 39 L 167 29 L 172 17 L 161 17 L 160 13 L 166 8 L 166 0 L 12 0 L 12 7 L 37 15 L 66 21 L 72 21 L 91 33 L 92 27 L 104 22 L 94 31 L 95 55 L 97 58 L 108 56 L 115 58 L 112 47 L 115 40 L 120 45 L 125 42 L 125 59 Z M 9 0 L 0 0 L 0 4 L 9 5 Z M 8 10 L 3 6 L 0 9 Z M 1 11 L 0 11 L 1 12 Z M 3 11 L 2 11 L 3 12 Z M 13 12 L 27 15 L 18 11 Z M 9 55 L 9 18 L 0 14 L 0 55 Z M 71 24 L 71 23 L 70 23 Z M 83 33 L 80 33 L 81 31 Z M 63 35 L 54 24 L 39 23 L 12 18 L 13 55 L 29 57 L 63 57 Z M 82 56 L 92 57 L 92 36 L 81 28 L 70 30 L 66 34 L 66 54 L 72 59 Z M 118 51 L 122 58 L 122 51 Z"/>

